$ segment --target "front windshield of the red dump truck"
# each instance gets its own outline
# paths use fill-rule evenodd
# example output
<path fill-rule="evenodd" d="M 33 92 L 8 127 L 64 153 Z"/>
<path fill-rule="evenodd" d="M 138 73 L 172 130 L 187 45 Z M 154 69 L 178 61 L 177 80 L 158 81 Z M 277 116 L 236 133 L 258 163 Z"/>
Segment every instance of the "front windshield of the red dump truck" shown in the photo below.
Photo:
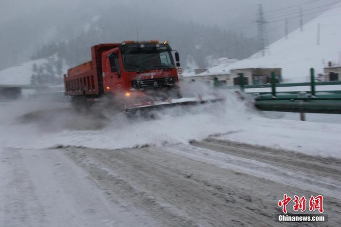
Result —
<path fill-rule="evenodd" d="M 153 50 L 122 53 L 125 71 L 174 68 L 169 50 Z"/>

